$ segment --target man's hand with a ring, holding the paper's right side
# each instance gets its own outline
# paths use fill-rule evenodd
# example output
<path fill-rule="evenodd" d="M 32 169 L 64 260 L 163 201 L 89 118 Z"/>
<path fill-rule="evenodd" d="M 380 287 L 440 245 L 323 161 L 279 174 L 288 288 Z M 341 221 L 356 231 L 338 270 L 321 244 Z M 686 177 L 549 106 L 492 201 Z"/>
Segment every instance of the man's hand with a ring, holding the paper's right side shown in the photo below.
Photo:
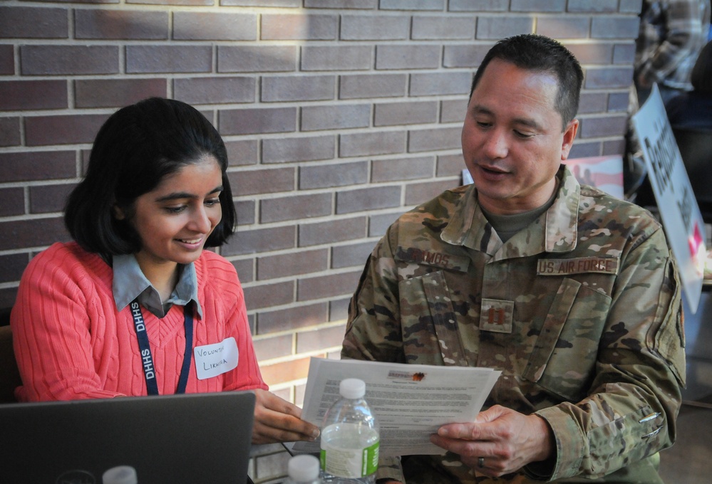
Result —
<path fill-rule="evenodd" d="M 554 454 L 554 436 L 544 419 L 500 405 L 480 412 L 473 423 L 443 425 L 430 441 L 460 454 L 465 465 L 490 477 L 512 473 Z"/>

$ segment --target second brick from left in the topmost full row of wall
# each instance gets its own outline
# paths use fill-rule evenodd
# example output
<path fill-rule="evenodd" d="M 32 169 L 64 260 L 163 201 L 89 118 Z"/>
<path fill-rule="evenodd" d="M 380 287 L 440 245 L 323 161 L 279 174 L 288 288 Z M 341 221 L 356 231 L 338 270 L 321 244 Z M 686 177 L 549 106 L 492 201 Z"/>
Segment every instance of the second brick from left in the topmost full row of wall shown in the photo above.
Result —
<path fill-rule="evenodd" d="M 74 11 L 76 38 L 164 40 L 168 38 L 168 13 L 148 10 Z"/>

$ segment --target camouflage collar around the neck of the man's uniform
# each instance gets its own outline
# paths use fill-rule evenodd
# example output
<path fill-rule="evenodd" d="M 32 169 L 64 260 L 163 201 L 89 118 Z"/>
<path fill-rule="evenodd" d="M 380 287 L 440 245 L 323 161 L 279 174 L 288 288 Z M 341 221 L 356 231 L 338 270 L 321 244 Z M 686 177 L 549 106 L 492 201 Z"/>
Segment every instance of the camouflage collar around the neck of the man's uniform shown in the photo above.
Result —
<path fill-rule="evenodd" d="M 465 191 L 440 238 L 453 245 L 482 251 L 495 259 L 566 253 L 576 248 L 581 187 L 566 165 L 559 167 L 558 194 L 550 208 L 530 226 L 502 243 L 485 218 L 474 184 Z"/>

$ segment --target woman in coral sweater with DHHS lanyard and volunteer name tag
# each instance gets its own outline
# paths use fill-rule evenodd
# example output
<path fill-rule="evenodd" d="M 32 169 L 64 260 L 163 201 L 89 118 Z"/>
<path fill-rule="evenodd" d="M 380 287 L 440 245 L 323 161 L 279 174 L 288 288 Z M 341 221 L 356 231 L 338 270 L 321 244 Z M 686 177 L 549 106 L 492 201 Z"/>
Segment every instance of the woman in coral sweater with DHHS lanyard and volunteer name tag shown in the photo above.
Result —
<path fill-rule="evenodd" d="M 74 241 L 39 253 L 11 314 L 21 401 L 252 390 L 253 443 L 313 440 L 267 391 L 231 263 L 225 144 L 195 108 L 160 98 L 101 127 L 70 194 Z"/>

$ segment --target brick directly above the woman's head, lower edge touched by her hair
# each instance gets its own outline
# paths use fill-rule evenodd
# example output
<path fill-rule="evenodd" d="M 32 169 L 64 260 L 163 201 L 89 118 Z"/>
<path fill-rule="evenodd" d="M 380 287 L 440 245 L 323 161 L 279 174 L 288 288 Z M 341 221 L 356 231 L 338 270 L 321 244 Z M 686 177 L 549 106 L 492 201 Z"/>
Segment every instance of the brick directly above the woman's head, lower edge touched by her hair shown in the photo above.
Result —
<path fill-rule="evenodd" d="M 123 107 L 151 97 L 167 96 L 167 80 L 87 79 L 74 81 L 76 107 Z"/>

